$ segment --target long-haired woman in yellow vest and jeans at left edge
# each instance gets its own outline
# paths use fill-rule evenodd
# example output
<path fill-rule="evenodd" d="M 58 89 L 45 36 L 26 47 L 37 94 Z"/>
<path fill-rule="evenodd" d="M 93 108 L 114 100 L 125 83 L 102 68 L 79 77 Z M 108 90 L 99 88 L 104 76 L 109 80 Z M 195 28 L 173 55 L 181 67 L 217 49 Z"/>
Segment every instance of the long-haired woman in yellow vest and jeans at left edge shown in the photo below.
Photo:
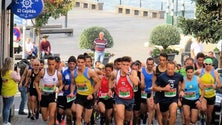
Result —
<path fill-rule="evenodd" d="M 3 81 L 1 89 L 3 97 L 3 125 L 11 125 L 11 123 L 9 123 L 10 109 L 18 89 L 17 82 L 20 81 L 19 68 L 15 68 L 15 70 L 16 71 L 13 71 L 13 59 L 10 57 L 5 58 L 1 70 Z"/>

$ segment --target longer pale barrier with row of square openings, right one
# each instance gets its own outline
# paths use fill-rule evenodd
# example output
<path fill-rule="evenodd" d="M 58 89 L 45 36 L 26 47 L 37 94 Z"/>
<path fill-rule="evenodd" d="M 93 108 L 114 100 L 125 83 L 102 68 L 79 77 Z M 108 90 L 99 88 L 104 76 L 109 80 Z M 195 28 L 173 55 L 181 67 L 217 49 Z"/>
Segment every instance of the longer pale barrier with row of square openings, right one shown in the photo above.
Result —
<path fill-rule="evenodd" d="M 141 16 L 141 17 L 148 17 L 148 18 L 159 18 L 159 19 L 164 19 L 164 15 L 165 15 L 165 11 L 161 11 L 161 10 L 149 10 L 145 8 L 124 6 L 124 5 L 117 5 L 115 12 L 117 14 Z"/>

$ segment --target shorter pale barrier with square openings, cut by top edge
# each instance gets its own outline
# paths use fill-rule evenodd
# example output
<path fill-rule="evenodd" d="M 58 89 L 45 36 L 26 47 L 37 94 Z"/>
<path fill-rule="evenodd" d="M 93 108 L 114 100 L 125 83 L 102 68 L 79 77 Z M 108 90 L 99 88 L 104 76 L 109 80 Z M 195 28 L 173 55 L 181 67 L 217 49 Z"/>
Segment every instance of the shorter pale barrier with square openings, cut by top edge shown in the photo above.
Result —
<path fill-rule="evenodd" d="M 87 0 L 76 0 L 75 7 L 80 7 L 90 10 L 103 10 L 103 3 L 87 1 Z"/>

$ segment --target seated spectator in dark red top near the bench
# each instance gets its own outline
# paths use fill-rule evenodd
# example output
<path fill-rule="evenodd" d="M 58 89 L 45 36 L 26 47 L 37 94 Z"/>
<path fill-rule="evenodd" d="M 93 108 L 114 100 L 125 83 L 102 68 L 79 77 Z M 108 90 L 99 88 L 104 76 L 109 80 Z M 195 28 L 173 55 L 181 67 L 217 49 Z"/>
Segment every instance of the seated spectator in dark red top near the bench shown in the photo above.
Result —
<path fill-rule="evenodd" d="M 40 51 L 41 51 L 41 56 L 42 59 L 44 59 L 45 55 L 51 55 L 51 45 L 50 42 L 47 40 L 49 36 L 44 35 L 42 38 L 42 42 L 40 44 Z"/>

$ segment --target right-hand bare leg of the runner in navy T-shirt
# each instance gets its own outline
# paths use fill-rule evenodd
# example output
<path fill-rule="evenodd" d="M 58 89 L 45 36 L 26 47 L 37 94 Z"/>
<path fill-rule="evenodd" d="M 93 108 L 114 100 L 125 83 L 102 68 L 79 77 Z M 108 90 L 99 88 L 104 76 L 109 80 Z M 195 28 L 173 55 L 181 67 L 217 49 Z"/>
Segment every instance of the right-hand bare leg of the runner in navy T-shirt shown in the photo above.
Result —
<path fill-rule="evenodd" d="M 175 125 L 176 123 L 176 115 L 177 115 L 177 103 L 173 102 L 169 106 L 169 113 L 170 113 L 170 119 L 169 119 L 169 125 Z"/>

